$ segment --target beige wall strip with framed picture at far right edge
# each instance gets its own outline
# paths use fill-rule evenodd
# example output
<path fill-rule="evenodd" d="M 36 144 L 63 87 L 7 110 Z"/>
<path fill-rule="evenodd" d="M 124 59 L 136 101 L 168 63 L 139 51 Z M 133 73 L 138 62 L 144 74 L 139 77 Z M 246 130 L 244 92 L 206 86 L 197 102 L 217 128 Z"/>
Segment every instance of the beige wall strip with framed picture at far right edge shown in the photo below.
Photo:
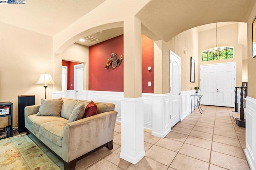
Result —
<path fill-rule="evenodd" d="M 256 4 L 247 21 L 248 41 L 248 96 L 256 99 L 256 57 L 252 58 L 252 22 L 256 16 Z"/>

